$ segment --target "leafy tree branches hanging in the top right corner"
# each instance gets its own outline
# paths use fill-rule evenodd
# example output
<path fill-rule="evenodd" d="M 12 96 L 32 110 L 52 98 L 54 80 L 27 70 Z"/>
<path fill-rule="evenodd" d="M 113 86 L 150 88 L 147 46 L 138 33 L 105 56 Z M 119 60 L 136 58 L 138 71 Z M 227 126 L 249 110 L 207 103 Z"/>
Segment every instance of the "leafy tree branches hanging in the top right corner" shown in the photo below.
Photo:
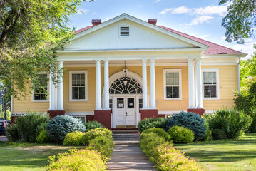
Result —
<path fill-rule="evenodd" d="M 222 19 L 226 28 L 226 41 L 244 43 L 243 38 L 250 38 L 256 27 L 256 0 L 221 0 L 221 4 L 230 2 L 227 15 Z"/>

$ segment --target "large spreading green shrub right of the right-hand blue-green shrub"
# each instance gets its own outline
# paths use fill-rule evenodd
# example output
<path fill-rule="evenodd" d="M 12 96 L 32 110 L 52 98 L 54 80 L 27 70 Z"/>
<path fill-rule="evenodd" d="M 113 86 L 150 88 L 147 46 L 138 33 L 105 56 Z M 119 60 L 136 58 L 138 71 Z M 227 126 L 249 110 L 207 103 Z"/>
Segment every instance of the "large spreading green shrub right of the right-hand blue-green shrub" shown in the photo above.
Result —
<path fill-rule="evenodd" d="M 237 110 L 220 109 L 204 116 L 210 130 L 224 130 L 227 138 L 240 138 L 252 123 L 252 118 Z"/>

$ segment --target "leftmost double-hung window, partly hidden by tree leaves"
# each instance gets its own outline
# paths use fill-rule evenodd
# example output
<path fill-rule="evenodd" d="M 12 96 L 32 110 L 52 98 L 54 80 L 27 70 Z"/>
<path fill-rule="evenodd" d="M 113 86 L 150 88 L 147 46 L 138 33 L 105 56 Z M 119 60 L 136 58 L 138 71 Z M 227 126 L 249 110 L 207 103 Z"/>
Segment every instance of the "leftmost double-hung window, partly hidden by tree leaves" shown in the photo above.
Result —
<path fill-rule="evenodd" d="M 39 74 L 39 82 L 34 85 L 32 95 L 33 102 L 47 102 L 48 76 L 46 73 Z"/>

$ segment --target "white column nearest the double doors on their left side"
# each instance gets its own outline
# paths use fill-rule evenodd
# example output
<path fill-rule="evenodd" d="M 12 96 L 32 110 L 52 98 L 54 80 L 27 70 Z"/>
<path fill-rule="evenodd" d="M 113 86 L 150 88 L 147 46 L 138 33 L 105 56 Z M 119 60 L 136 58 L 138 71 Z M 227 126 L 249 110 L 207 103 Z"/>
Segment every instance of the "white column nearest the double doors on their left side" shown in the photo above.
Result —
<path fill-rule="evenodd" d="M 109 110 L 108 60 L 104 62 L 104 108 Z"/>

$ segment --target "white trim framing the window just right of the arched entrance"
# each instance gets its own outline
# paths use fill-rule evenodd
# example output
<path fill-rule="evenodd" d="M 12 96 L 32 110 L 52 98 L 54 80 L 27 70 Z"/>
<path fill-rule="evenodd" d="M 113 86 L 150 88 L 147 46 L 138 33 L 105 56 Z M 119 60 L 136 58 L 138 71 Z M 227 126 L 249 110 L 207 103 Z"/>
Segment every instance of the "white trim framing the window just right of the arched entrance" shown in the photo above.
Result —
<path fill-rule="evenodd" d="M 165 73 L 179 73 L 179 98 L 166 98 L 166 76 Z M 163 69 L 163 100 L 183 100 L 181 69 Z"/>

